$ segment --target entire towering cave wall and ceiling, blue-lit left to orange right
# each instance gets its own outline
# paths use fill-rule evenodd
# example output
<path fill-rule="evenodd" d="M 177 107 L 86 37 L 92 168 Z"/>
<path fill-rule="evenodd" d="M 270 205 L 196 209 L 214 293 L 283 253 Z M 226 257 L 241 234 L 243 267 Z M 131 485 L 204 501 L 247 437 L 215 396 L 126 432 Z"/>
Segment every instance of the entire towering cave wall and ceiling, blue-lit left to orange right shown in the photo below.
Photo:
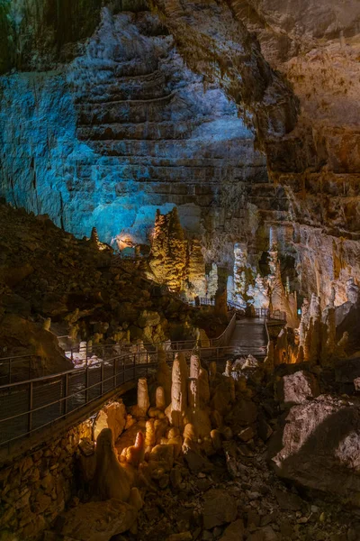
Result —
<path fill-rule="evenodd" d="M 144 242 L 178 206 L 228 266 L 275 225 L 301 293 L 320 268 L 323 302 L 334 282 L 342 301 L 359 280 L 358 3 L 105 4 L 1 3 L 0 194 L 107 242 Z"/>

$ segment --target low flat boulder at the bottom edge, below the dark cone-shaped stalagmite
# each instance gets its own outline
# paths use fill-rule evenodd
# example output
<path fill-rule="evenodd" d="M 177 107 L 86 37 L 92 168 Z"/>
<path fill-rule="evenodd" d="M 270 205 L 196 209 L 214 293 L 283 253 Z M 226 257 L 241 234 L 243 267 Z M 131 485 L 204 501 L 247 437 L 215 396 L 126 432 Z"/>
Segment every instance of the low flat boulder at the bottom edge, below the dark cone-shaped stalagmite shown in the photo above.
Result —
<path fill-rule="evenodd" d="M 137 510 L 121 500 L 91 501 L 70 509 L 57 520 L 57 530 L 76 541 L 109 541 L 136 521 Z"/>

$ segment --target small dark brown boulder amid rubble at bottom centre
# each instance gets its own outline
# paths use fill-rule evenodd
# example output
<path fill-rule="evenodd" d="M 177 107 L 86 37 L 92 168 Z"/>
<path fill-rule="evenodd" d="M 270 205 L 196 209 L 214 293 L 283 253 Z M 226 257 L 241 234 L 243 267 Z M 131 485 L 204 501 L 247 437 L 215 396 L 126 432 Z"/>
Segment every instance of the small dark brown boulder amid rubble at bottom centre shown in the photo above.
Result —
<path fill-rule="evenodd" d="M 237 502 L 227 491 L 211 489 L 203 495 L 203 527 L 221 526 L 233 522 L 237 516 Z"/>

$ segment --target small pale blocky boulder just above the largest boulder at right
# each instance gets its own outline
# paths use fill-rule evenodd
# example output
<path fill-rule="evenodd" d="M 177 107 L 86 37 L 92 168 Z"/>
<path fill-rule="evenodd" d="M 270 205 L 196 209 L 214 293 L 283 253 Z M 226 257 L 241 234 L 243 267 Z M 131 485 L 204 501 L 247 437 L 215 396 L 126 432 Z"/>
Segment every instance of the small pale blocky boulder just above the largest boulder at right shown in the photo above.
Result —
<path fill-rule="evenodd" d="M 276 394 L 284 408 L 291 408 L 295 404 L 302 404 L 308 399 L 315 399 L 320 395 L 319 382 L 308 371 L 296 371 L 284 375 L 276 384 Z"/>

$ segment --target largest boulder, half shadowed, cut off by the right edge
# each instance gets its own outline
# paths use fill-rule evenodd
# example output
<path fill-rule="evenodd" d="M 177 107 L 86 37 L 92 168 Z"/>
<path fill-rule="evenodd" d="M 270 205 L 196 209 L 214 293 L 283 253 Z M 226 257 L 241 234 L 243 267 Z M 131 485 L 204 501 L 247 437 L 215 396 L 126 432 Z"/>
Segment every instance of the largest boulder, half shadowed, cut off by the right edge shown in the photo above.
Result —
<path fill-rule="evenodd" d="M 268 454 L 280 477 L 360 506 L 360 401 L 321 395 L 293 406 Z"/>

